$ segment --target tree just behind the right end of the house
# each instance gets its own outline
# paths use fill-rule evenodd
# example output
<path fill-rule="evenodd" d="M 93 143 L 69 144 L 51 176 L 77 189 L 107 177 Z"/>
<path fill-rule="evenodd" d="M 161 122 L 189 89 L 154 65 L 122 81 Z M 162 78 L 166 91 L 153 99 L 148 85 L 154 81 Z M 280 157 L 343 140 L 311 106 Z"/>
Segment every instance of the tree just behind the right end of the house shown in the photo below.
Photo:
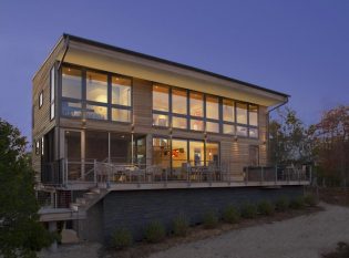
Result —
<path fill-rule="evenodd" d="M 269 123 L 269 158 L 271 164 L 302 164 L 312 161 L 310 132 L 290 107 L 277 111 Z"/>

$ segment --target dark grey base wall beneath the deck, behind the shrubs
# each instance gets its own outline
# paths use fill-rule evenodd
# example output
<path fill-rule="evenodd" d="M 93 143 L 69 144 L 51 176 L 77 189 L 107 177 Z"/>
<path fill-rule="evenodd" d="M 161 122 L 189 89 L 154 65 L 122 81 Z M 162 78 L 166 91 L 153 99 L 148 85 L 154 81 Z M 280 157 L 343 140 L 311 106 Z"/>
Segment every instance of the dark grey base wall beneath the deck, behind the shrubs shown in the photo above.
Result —
<path fill-rule="evenodd" d="M 236 207 L 246 202 L 258 203 L 261 199 L 276 200 L 279 196 L 294 198 L 302 195 L 301 186 L 285 186 L 283 188 L 201 188 L 201 189 L 164 189 L 164 190 L 130 190 L 112 192 L 100 202 L 97 209 L 89 213 L 83 220 L 80 237 L 89 240 L 109 241 L 111 234 L 117 227 L 126 227 L 136 240 L 142 239 L 144 227 L 153 220 L 163 223 L 171 230 L 173 218 L 184 214 L 192 225 L 198 224 L 203 215 L 209 210 L 222 210 L 229 204 Z M 96 224 L 103 214 L 103 238 Z M 95 221 L 94 221 L 95 219 Z"/>

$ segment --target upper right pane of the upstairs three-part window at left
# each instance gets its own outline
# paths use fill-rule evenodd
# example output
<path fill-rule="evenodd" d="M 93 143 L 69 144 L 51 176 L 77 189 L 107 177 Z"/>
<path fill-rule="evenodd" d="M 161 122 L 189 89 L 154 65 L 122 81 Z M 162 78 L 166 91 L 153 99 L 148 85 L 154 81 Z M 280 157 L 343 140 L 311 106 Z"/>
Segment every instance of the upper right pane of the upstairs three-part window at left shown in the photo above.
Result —
<path fill-rule="evenodd" d="M 112 78 L 112 104 L 131 106 L 131 79 Z"/>

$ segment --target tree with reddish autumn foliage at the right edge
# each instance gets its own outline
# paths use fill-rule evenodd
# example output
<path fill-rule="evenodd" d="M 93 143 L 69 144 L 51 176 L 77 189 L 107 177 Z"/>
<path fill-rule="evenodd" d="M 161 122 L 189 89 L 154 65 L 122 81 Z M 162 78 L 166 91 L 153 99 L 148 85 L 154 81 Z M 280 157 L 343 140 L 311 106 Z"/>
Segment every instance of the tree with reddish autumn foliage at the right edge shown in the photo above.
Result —
<path fill-rule="evenodd" d="M 347 186 L 349 179 L 349 106 L 326 111 L 315 125 L 317 161 L 321 177 L 330 184 Z"/>

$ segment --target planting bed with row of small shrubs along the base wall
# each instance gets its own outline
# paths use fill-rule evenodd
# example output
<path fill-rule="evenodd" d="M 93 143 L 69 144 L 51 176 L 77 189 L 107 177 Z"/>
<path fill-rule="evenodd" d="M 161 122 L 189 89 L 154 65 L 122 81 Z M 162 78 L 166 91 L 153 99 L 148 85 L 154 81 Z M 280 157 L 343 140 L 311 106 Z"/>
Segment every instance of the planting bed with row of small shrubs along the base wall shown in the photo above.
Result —
<path fill-rule="evenodd" d="M 260 204 L 255 205 L 255 207 L 248 207 L 248 204 L 245 207 L 242 207 L 237 219 L 234 219 L 234 216 L 232 217 L 232 215 L 234 215 L 233 207 L 229 213 L 227 211 L 227 215 L 230 216 L 224 215 L 223 213 L 223 218 L 218 218 L 215 214 L 206 214 L 204 215 L 203 224 L 194 227 L 187 227 L 184 236 L 178 237 L 172 234 L 165 237 L 162 235 L 158 241 L 152 242 L 143 240 L 134 242 L 131 247 L 121 250 L 107 248 L 102 251 L 103 257 L 147 257 L 151 254 L 163 251 L 171 247 L 219 236 L 230 230 L 243 229 L 263 224 L 273 224 L 275 221 L 281 221 L 302 215 L 310 215 L 322 210 L 322 208 L 318 207 L 316 203 L 314 203 L 314 198 L 308 198 L 306 202 L 307 204 L 305 203 L 305 198 L 286 202 L 285 210 L 283 211 L 275 210 L 275 208 L 280 209 L 280 204 L 268 204 L 266 202 L 261 202 Z M 228 218 L 230 218 L 230 220 L 227 221 Z M 182 221 L 179 225 L 183 224 L 185 223 Z"/>

